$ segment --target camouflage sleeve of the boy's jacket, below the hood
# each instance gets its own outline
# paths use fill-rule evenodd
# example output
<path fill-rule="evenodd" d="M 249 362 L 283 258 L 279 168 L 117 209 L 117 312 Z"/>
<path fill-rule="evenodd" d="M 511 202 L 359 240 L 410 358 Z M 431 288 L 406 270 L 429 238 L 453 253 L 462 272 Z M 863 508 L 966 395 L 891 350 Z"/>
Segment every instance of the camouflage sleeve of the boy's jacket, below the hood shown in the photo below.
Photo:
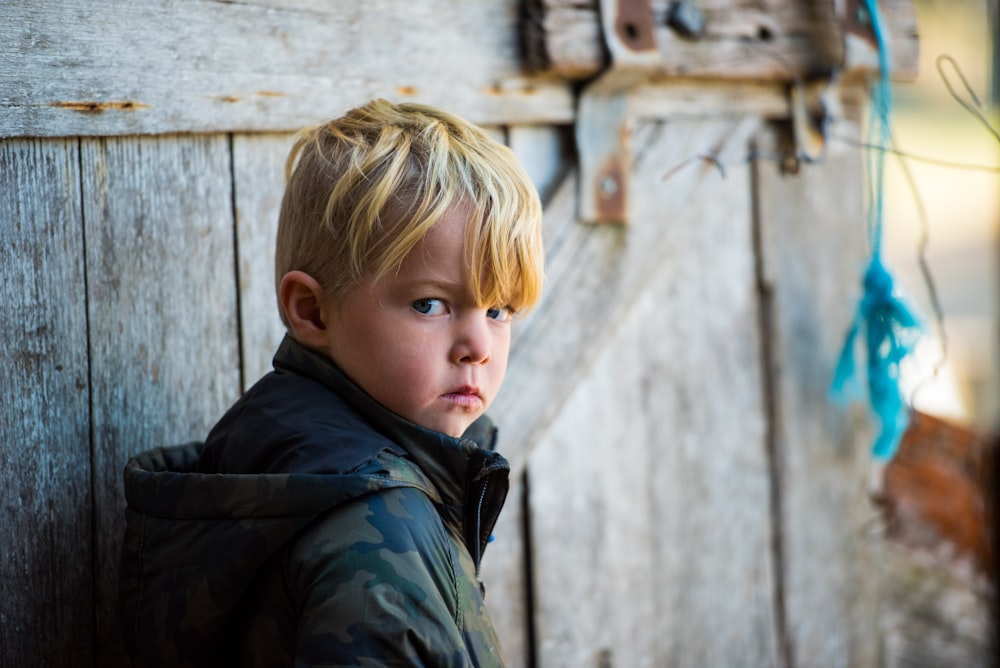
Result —
<path fill-rule="evenodd" d="M 455 543 L 421 491 L 383 490 L 338 506 L 291 554 L 295 665 L 471 665 L 458 570 Z"/>

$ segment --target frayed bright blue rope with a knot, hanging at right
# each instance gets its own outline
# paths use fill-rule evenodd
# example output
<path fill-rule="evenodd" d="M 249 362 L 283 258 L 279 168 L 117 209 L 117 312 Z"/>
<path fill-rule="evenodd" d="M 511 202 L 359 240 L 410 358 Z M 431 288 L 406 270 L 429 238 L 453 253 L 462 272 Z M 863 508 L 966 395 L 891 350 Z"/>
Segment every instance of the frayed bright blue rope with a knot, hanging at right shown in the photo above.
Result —
<path fill-rule="evenodd" d="M 888 45 L 876 0 L 865 0 L 878 45 L 879 79 L 872 89 L 869 146 L 888 147 L 892 143 L 889 113 L 892 109 Z M 863 294 L 847 332 L 834 372 L 832 391 L 837 398 L 856 392 L 854 349 L 859 332 L 864 331 L 868 356 L 868 400 L 881 429 L 872 445 L 876 459 L 895 454 L 910 422 L 909 406 L 899 387 L 900 362 L 913 351 L 922 326 L 906 303 L 897 295 L 892 274 L 882 262 L 882 195 L 885 151 L 869 149 L 868 161 L 868 241 L 871 259 L 862 280 Z"/>

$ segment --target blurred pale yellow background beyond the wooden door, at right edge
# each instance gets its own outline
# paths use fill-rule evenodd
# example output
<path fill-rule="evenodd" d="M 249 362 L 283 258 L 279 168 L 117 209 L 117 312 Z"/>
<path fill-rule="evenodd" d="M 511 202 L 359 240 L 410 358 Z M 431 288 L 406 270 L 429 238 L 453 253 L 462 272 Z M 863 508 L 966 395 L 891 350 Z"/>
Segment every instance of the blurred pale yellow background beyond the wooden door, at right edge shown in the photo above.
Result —
<path fill-rule="evenodd" d="M 906 154 L 989 170 L 908 158 L 911 187 L 899 160 L 886 161 L 885 253 L 898 285 L 929 324 L 905 369 L 904 382 L 923 412 L 970 426 L 1000 427 L 1000 141 L 949 94 L 938 59 L 950 56 L 998 126 L 997 0 L 915 0 L 920 72 L 894 86 L 893 128 Z M 941 62 L 951 87 L 975 104 L 955 67 Z M 919 201 L 918 199 L 919 198 Z M 922 221 L 921 207 L 926 211 Z M 944 336 L 921 273 L 926 260 L 944 316 Z M 947 356 L 943 364 L 943 341 Z M 935 367 L 939 367 L 934 375 Z"/>

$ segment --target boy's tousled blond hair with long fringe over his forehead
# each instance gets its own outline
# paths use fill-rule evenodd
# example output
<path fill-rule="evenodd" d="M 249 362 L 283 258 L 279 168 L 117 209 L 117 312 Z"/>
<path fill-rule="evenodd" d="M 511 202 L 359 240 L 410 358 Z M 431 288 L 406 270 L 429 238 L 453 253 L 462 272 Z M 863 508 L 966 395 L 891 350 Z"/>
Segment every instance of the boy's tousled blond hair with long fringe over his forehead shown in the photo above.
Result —
<path fill-rule="evenodd" d="M 541 296 L 538 193 L 510 149 L 457 116 L 374 100 L 302 130 L 285 174 L 278 286 L 301 270 L 342 296 L 393 271 L 461 206 L 476 303 L 527 310 Z"/>

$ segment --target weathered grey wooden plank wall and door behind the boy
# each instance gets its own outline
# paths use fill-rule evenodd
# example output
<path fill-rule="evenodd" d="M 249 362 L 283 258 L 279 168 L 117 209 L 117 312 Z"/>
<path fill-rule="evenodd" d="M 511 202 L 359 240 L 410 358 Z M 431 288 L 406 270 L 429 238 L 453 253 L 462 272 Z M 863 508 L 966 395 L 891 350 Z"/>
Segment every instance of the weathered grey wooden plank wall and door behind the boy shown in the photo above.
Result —
<path fill-rule="evenodd" d="M 749 39 L 806 48 L 771 4 Z M 826 400 L 857 152 L 782 171 L 775 60 L 724 51 L 706 73 L 741 82 L 635 91 L 630 223 L 582 225 L 575 89 L 526 70 L 520 14 L 0 7 L 0 665 L 120 663 L 122 467 L 269 368 L 289 131 L 372 95 L 489 126 L 546 201 L 546 295 L 493 411 L 515 471 L 484 577 L 512 665 L 878 665 L 866 431 Z"/>

